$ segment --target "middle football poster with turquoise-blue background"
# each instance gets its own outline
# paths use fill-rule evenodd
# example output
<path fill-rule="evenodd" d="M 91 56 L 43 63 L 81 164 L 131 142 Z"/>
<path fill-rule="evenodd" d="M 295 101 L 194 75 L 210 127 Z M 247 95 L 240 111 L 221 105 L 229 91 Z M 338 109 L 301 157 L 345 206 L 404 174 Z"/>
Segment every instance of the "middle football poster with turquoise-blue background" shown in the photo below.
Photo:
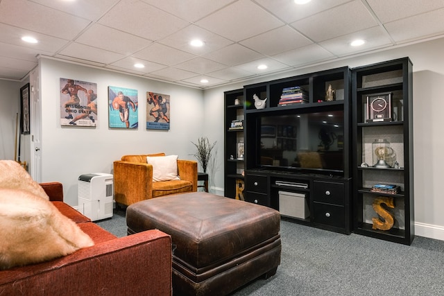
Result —
<path fill-rule="evenodd" d="M 137 89 L 108 87 L 110 128 L 139 128 Z"/>

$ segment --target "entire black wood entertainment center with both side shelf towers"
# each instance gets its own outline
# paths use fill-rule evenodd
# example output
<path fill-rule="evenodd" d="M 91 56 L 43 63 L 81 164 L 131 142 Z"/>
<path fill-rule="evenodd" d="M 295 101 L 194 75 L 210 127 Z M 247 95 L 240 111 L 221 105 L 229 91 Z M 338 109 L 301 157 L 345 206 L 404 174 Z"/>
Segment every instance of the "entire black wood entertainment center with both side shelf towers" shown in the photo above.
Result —
<path fill-rule="evenodd" d="M 278 209 L 296 223 L 411 244 L 412 76 L 409 58 L 401 58 L 225 92 L 225 196 L 235 198 L 241 181 L 247 202 Z M 287 103 L 295 93 L 296 101 Z M 243 122 L 233 128 L 233 121 Z M 378 153 L 390 151 L 391 158 L 378 155 L 375 164 L 376 139 L 387 146 Z M 400 191 L 373 192 L 379 183 Z M 395 205 L 382 208 L 393 217 L 388 230 L 372 227 L 372 218 L 382 218 L 372 209 L 375 198 Z"/>

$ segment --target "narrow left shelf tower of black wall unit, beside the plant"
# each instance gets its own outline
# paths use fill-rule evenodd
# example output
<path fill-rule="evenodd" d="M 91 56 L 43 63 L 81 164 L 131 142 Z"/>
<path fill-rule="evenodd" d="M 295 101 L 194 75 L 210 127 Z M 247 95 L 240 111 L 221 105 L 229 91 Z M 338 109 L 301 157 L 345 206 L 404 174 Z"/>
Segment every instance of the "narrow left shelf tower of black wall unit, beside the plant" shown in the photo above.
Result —
<path fill-rule="evenodd" d="M 244 89 L 224 93 L 224 190 L 236 198 L 244 182 Z"/>

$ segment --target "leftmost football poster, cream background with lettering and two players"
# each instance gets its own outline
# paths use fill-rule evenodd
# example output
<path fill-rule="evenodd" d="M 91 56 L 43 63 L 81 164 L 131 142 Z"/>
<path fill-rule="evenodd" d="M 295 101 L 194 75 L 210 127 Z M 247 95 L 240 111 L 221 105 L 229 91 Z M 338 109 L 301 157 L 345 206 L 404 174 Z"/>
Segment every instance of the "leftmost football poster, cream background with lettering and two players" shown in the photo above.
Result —
<path fill-rule="evenodd" d="M 60 124 L 97 125 L 97 84 L 60 78 Z"/>

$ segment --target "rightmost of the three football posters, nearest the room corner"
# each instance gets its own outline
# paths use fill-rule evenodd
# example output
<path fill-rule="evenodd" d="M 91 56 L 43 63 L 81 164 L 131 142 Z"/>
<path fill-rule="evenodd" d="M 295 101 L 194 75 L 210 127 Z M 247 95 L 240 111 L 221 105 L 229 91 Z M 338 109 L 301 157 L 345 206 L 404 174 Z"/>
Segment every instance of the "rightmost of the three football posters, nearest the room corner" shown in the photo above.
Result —
<path fill-rule="evenodd" d="M 169 94 L 146 92 L 146 129 L 169 130 Z"/>

